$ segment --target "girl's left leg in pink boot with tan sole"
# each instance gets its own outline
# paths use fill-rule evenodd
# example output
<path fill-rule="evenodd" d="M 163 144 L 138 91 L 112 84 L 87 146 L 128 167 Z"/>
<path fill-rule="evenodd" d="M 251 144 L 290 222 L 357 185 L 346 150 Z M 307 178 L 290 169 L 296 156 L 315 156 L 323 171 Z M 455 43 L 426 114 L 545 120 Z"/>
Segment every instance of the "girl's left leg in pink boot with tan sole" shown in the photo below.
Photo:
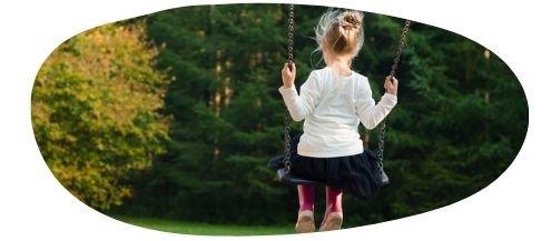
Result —
<path fill-rule="evenodd" d="M 296 221 L 296 232 L 314 232 L 314 197 L 313 185 L 297 185 L 298 190 L 298 219 Z"/>

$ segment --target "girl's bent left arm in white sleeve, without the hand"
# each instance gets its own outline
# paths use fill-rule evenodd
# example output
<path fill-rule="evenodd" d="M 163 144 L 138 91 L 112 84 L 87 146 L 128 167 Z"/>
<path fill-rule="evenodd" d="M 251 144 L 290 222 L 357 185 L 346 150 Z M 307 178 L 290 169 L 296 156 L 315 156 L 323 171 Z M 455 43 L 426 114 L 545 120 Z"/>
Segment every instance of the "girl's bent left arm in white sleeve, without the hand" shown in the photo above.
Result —
<path fill-rule="evenodd" d="M 295 86 L 289 88 L 283 86 L 279 88 L 279 93 L 294 121 L 302 121 L 314 111 L 321 92 L 322 87 L 315 72 L 311 72 L 306 82 L 301 87 L 301 96 L 298 96 Z"/>

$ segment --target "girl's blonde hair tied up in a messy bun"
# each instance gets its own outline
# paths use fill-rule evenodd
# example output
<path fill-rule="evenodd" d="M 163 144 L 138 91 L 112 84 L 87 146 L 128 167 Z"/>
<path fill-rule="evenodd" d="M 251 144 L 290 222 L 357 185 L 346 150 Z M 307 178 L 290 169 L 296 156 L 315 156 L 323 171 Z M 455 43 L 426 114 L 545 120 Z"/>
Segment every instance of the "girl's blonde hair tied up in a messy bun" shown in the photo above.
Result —
<path fill-rule="evenodd" d="M 352 10 L 325 12 L 315 28 L 315 51 L 322 50 L 322 42 L 336 54 L 357 54 L 364 44 L 363 13 Z"/>

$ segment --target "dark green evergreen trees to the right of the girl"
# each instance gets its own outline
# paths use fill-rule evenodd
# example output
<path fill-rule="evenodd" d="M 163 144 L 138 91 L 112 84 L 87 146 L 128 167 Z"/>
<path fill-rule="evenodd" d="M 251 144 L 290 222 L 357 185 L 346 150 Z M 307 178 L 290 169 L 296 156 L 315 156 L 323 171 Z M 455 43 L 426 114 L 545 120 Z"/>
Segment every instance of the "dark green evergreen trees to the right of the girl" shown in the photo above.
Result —
<path fill-rule="evenodd" d="M 370 16 L 366 22 L 360 59 L 370 60 L 371 70 L 388 70 L 392 51 L 376 51 L 395 48 L 403 21 Z M 384 74 L 372 76 L 375 90 Z M 514 160 L 528 129 L 528 103 L 514 73 L 462 36 L 414 23 L 399 78 L 385 149 L 392 183 L 372 202 L 354 205 L 365 213 L 357 217 L 363 223 L 434 210 L 480 191 Z"/>

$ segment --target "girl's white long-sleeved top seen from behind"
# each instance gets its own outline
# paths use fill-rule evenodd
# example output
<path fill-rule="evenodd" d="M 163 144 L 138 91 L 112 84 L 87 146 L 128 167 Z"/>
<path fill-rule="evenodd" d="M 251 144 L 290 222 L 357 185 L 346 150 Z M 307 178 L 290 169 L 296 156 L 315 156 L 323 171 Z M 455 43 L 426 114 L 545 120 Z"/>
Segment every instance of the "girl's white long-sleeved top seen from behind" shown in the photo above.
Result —
<path fill-rule="evenodd" d="M 396 96 L 385 93 L 375 104 L 366 77 L 356 72 L 338 76 L 328 67 L 312 71 L 301 94 L 295 87 L 278 90 L 293 120 L 305 120 L 298 154 L 313 158 L 362 153 L 360 122 L 373 129 L 397 103 Z"/>

